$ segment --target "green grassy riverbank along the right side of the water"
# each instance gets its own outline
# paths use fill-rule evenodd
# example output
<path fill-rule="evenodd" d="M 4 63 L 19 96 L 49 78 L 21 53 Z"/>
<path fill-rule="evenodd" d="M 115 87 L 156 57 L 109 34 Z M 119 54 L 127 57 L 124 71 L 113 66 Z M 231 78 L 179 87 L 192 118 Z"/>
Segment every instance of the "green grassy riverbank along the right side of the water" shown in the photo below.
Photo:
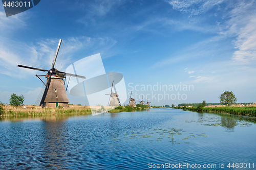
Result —
<path fill-rule="evenodd" d="M 256 117 L 256 107 L 174 107 L 174 109 L 183 109 L 198 112 L 214 112 L 214 113 L 228 113 L 234 115 Z"/>

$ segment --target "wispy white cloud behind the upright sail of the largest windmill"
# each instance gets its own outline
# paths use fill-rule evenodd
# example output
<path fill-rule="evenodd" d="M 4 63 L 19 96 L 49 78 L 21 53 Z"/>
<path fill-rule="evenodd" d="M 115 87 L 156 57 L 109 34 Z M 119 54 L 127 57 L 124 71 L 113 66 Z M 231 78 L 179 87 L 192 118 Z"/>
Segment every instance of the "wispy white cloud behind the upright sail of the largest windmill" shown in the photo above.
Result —
<path fill-rule="evenodd" d="M 35 70 L 17 67 L 18 64 L 28 65 L 37 68 L 49 69 L 51 67 L 59 39 L 44 39 L 34 44 L 27 44 L 10 39 L 0 40 L 0 74 L 16 78 L 24 78 L 28 75 L 35 74 Z M 62 67 L 70 64 L 77 59 L 87 57 L 78 56 L 85 51 L 94 53 L 105 53 L 117 41 L 105 38 L 91 37 L 70 37 L 60 47 L 60 52 L 56 61 L 56 68 L 61 60 Z M 65 45 L 64 45 L 65 44 Z M 64 45 L 64 46 L 63 46 Z M 65 47 L 63 49 L 63 47 Z M 63 55 L 61 55 L 63 50 Z M 65 56 L 62 57 L 61 56 Z M 103 55 L 109 57 L 108 55 Z M 80 57 L 80 58 L 79 58 Z"/>

